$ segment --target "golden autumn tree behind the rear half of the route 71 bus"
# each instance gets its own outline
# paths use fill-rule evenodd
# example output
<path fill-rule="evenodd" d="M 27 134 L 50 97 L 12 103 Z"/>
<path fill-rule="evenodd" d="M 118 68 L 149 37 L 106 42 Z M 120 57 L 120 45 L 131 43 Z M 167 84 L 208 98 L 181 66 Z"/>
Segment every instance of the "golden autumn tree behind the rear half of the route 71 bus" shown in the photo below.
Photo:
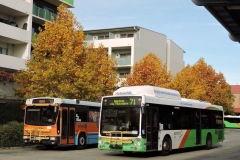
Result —
<path fill-rule="evenodd" d="M 187 65 L 173 79 L 170 88 L 178 90 L 182 97 L 208 101 L 221 105 L 225 111 L 233 104 L 231 86 L 222 73 L 216 73 L 203 58 L 193 66 Z"/>

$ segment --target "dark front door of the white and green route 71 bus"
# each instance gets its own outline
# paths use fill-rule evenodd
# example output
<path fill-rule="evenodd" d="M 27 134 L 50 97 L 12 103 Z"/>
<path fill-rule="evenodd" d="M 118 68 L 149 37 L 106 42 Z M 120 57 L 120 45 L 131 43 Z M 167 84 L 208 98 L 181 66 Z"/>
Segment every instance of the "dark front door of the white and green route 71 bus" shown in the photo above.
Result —
<path fill-rule="evenodd" d="M 157 108 L 147 108 L 146 131 L 147 150 L 158 149 L 158 110 Z"/>

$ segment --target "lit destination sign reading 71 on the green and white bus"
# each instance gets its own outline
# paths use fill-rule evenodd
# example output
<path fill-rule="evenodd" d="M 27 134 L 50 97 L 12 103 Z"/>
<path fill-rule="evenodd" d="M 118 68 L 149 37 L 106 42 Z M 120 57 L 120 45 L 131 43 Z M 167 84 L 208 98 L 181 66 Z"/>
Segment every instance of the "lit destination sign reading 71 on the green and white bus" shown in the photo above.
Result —
<path fill-rule="evenodd" d="M 108 97 L 103 99 L 104 106 L 140 106 L 141 97 Z"/>

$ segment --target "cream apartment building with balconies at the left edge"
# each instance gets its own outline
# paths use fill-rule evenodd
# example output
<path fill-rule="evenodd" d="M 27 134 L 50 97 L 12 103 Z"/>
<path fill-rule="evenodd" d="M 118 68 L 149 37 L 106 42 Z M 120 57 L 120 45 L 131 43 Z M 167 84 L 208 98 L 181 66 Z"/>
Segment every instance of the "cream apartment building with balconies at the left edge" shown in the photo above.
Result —
<path fill-rule="evenodd" d="M 57 7 L 62 3 L 74 7 L 74 0 L 0 0 L 0 70 L 26 69 L 33 33 L 45 21 L 56 17 Z M 0 84 L 0 103 L 5 98 L 17 98 L 13 86 Z"/>

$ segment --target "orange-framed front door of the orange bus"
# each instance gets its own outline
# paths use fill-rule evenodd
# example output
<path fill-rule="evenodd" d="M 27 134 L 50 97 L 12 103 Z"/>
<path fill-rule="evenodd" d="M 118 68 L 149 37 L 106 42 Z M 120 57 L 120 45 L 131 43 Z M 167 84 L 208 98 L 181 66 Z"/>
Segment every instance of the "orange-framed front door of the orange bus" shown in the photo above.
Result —
<path fill-rule="evenodd" d="M 74 144 L 75 108 L 62 108 L 61 144 Z"/>

